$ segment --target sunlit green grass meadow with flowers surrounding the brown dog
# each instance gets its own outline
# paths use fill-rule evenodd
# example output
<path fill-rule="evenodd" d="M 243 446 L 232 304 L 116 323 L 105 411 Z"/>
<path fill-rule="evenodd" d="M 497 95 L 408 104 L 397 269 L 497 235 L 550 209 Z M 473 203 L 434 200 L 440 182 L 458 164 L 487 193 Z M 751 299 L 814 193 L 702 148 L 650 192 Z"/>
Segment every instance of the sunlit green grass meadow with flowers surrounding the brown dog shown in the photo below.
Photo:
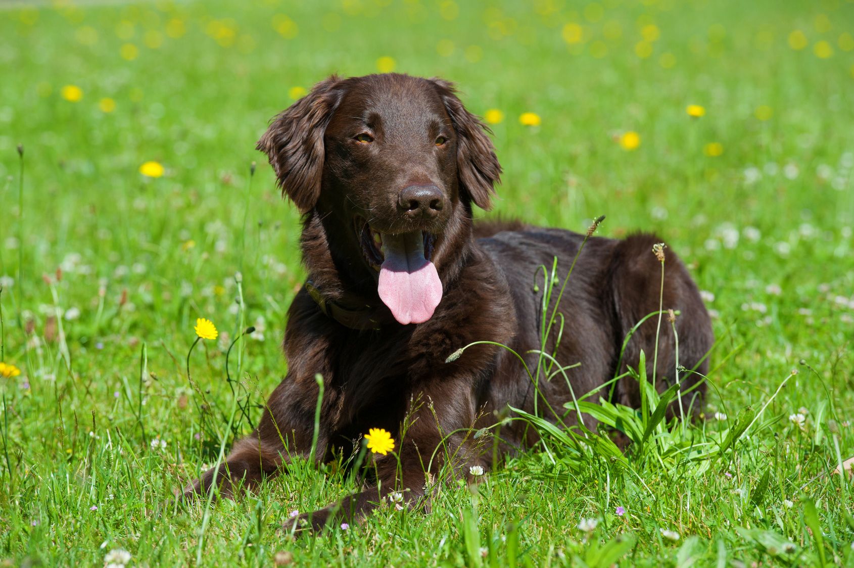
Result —
<path fill-rule="evenodd" d="M 854 565 L 851 483 L 831 475 L 854 454 L 851 33 L 841 0 L 0 4 L 2 359 L 21 370 L 0 378 L 0 556 Z M 528 417 L 541 451 L 442 486 L 430 515 L 296 542 L 289 512 L 352 477 L 299 462 L 209 511 L 176 503 L 284 375 L 298 218 L 254 142 L 295 87 L 392 62 L 504 114 L 492 215 L 584 231 L 606 214 L 600 234 L 657 231 L 686 260 L 714 294 L 705 420 L 656 422 L 654 393 L 640 413 L 584 407 L 652 424 L 623 457 Z M 196 346 L 191 384 L 197 317 L 220 337 Z"/>

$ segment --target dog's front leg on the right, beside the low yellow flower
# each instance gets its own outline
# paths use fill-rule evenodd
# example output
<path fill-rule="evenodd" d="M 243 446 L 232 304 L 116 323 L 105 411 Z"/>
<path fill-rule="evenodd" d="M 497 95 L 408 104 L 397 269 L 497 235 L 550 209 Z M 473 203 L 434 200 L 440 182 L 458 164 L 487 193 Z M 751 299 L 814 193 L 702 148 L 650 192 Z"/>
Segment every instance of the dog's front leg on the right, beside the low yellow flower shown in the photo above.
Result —
<path fill-rule="evenodd" d="M 379 508 L 393 514 L 422 500 L 431 483 L 444 477 L 456 477 L 465 466 L 482 464 L 471 443 L 477 403 L 465 378 L 435 379 L 412 389 L 407 404 L 407 419 L 395 435 L 396 452 L 373 454 L 377 483 L 350 495 L 329 507 L 295 518 L 285 528 L 318 530 L 325 525 L 358 523 Z M 482 464 L 483 465 L 483 464 Z"/>

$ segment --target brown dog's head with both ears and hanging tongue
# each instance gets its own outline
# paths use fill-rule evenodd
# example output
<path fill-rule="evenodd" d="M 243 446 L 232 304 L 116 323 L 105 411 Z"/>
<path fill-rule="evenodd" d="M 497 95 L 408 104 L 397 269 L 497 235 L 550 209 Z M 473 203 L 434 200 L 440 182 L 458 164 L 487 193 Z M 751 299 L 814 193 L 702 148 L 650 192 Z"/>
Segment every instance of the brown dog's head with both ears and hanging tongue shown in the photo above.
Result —
<path fill-rule="evenodd" d="M 301 212 L 339 229 L 330 246 L 358 256 L 395 319 L 421 323 L 442 299 L 443 261 L 457 258 L 451 236 L 472 202 L 490 207 L 499 181 L 487 131 L 447 81 L 332 76 L 279 114 L 258 149 Z"/>

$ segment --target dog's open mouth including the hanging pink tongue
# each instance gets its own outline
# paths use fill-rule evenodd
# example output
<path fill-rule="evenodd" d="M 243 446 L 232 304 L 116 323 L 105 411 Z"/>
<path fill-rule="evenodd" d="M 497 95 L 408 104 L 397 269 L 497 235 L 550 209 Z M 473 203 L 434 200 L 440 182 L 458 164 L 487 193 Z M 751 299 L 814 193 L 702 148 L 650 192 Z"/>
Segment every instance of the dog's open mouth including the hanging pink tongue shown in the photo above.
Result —
<path fill-rule="evenodd" d="M 379 272 L 379 297 L 395 319 L 403 325 L 430 319 L 442 301 L 442 281 L 431 262 L 436 237 L 427 231 L 377 231 L 360 216 L 354 225 L 362 255 Z"/>

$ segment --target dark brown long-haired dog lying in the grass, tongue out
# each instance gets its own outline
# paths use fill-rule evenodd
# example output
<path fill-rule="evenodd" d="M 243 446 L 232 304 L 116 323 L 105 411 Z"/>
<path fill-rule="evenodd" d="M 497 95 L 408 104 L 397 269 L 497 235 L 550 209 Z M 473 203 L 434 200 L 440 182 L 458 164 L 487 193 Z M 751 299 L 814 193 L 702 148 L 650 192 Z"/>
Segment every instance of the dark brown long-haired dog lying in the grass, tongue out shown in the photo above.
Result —
<path fill-rule="evenodd" d="M 365 489 L 296 518 L 297 526 L 358 521 L 391 492 L 405 505 L 429 508 L 425 480 L 442 466 L 459 475 L 471 466 L 488 470 L 496 457 L 537 442 L 523 421 L 505 420 L 497 450 L 477 448 L 471 432 L 506 418 L 509 407 L 562 409 L 572 401 L 570 385 L 578 394 L 600 387 L 637 368 L 641 349 L 652 354 L 656 346 L 658 384 L 666 388 L 676 369 L 670 323 L 647 319 L 621 356 L 624 339 L 659 302 L 679 313 L 679 364 L 705 374 L 709 315 L 669 249 L 658 249 L 666 254 L 662 280 L 664 259 L 652 252 L 658 237 L 586 238 L 516 221 L 473 223 L 473 208 L 490 208 L 500 181 L 488 133 L 453 84 L 397 73 L 331 76 L 272 120 L 257 148 L 302 214 L 307 270 L 288 313 L 288 371 L 258 427 L 185 495 L 207 495 L 217 485 L 220 495 L 233 496 L 287 471 L 294 456 L 320 462 L 383 428 L 394 436 L 396 457 L 371 456 L 376 478 Z M 557 258 L 565 272 L 576 254 L 557 306 L 563 325 L 553 326 L 545 351 L 561 365 L 581 365 L 566 371 L 568 381 L 543 379 L 535 388 L 510 349 L 535 368 L 543 317 L 555 307 L 541 309 L 542 266 Z M 460 354 L 483 341 L 492 343 Z M 317 375 L 324 394 L 313 453 Z M 682 388 L 695 377 L 683 377 Z M 685 407 L 696 413 L 702 394 L 700 384 L 683 396 Z M 640 405 L 631 378 L 617 381 L 610 395 Z"/>

